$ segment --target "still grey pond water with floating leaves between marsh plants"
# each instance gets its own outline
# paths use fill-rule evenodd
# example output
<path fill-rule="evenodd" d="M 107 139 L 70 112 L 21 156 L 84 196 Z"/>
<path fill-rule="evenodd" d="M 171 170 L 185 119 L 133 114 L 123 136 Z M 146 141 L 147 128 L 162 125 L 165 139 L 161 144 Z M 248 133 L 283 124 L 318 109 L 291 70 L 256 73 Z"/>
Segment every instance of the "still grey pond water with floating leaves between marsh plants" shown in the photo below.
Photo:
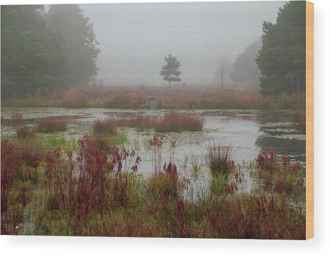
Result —
<path fill-rule="evenodd" d="M 60 132 L 66 137 L 79 139 L 91 129 L 96 119 L 104 117 L 123 117 L 134 114 L 151 116 L 162 115 L 169 110 L 122 110 L 102 108 L 2 108 L 1 114 L 5 118 L 1 126 L 1 135 L 13 137 L 15 128 L 10 125 L 10 114 L 17 111 L 23 114 L 24 123 L 36 124 L 45 117 L 63 117 L 69 120 L 67 130 Z M 306 136 L 297 129 L 292 111 L 261 111 L 261 110 L 180 110 L 179 112 L 193 113 L 203 116 L 205 125 L 198 132 L 162 132 L 153 130 L 137 131 L 134 128 L 121 128 L 120 132 L 127 134 L 127 148 L 135 149 L 142 162 L 138 173 L 148 176 L 152 173 L 152 151 L 144 147 L 144 143 L 154 135 L 163 135 L 162 162 L 170 160 L 170 141 L 176 141 L 174 149 L 174 163 L 179 173 L 188 176 L 196 184 L 203 184 L 209 180 L 209 171 L 205 165 L 207 147 L 213 142 L 223 141 L 233 146 L 233 159 L 243 164 L 255 160 L 261 151 L 273 148 L 278 152 L 278 159 L 282 155 L 289 155 L 291 163 L 298 161 L 302 170 L 306 162 Z M 74 130 L 74 134 L 71 134 Z M 71 132 L 70 132 L 71 131 Z M 45 136 L 42 135 L 41 136 Z M 191 162 L 197 161 L 201 170 L 198 174 L 191 173 Z M 248 175 L 246 175 L 248 177 Z M 247 184 L 253 181 L 247 178 Z M 247 185 L 248 186 L 248 185 Z"/>

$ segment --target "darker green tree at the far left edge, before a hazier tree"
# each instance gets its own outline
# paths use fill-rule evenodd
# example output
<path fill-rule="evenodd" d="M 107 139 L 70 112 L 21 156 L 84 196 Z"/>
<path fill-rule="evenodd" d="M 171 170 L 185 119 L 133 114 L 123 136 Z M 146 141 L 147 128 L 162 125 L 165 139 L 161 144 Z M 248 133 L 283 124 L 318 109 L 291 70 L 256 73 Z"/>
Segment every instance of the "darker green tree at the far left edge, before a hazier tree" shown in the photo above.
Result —
<path fill-rule="evenodd" d="M 1 7 L 2 99 L 34 93 L 49 86 L 51 58 L 35 32 L 45 28 L 38 11 L 43 6 Z M 38 33 L 42 35 L 42 33 Z"/>

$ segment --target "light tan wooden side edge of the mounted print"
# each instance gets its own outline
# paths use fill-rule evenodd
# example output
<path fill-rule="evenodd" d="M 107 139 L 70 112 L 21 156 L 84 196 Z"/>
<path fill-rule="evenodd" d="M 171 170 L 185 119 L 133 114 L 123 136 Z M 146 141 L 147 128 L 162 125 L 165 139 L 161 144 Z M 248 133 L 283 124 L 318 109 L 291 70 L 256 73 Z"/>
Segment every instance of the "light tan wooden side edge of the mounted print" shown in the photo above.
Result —
<path fill-rule="evenodd" d="M 314 238 L 314 3 L 306 1 L 306 240 Z"/>

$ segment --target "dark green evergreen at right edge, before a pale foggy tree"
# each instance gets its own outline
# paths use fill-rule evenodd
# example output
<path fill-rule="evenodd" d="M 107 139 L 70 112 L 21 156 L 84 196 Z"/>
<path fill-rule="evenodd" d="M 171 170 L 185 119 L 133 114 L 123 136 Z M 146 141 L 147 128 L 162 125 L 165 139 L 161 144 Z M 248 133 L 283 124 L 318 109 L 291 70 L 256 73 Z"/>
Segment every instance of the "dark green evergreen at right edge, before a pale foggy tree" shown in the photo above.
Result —
<path fill-rule="evenodd" d="M 298 94 L 306 89 L 305 1 L 286 3 L 278 12 L 276 24 L 264 22 L 256 62 L 261 71 L 262 94 Z"/>

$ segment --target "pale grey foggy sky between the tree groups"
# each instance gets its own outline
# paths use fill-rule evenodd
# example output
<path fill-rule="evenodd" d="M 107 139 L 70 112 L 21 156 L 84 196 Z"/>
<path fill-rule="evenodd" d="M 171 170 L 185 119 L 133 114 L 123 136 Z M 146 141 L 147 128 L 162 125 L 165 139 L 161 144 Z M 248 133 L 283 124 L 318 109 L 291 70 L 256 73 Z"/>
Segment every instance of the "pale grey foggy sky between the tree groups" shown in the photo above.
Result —
<path fill-rule="evenodd" d="M 275 22 L 285 2 L 81 4 L 100 43 L 103 85 L 160 85 L 164 57 L 181 62 L 180 78 L 209 84 L 222 55 L 232 62 Z M 173 85 L 175 85 L 174 83 Z"/>

